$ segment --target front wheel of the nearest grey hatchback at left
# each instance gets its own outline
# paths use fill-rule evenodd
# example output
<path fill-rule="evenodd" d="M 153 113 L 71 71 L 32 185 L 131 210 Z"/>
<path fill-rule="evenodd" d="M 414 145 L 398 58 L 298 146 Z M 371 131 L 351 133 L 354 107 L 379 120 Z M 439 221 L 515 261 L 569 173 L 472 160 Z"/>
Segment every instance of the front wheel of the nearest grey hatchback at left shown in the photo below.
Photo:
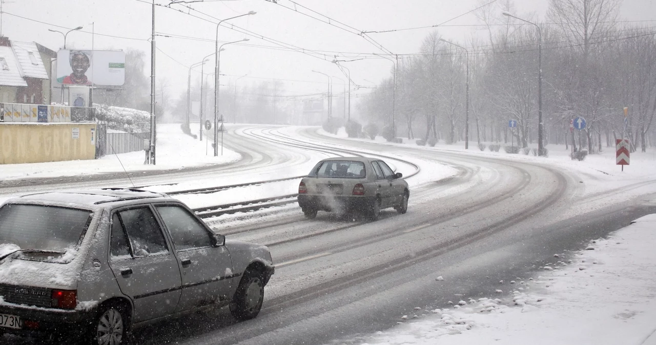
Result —
<path fill-rule="evenodd" d="M 262 302 L 264 302 L 262 275 L 247 270 L 241 277 L 233 302 L 230 304 L 230 314 L 239 321 L 253 319 L 259 314 Z"/>

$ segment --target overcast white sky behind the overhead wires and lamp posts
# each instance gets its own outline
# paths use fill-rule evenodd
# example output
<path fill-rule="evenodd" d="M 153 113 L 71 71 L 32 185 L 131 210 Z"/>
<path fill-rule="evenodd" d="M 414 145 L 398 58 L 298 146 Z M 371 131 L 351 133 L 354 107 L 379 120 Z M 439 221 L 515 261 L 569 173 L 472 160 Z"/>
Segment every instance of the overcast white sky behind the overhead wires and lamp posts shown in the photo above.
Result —
<path fill-rule="evenodd" d="M 150 43 L 144 41 L 149 39 L 151 31 L 151 5 L 148 4 L 150 0 L 9 1 L 13 2 L 5 3 L 3 7 L 6 13 L 2 17 L 2 33 L 10 39 L 35 41 L 57 50 L 63 46 L 63 37 L 60 33 L 52 33 L 47 29 L 66 31 L 62 27 L 84 26 L 84 32 L 73 31 L 68 34 L 67 47 L 91 49 L 91 23 L 94 22 L 96 32 L 94 48 L 136 48 L 144 50 L 150 57 Z M 504 0 L 498 0 L 497 3 L 490 6 L 498 5 L 502 1 Z M 296 2 L 362 31 L 440 24 L 474 9 L 478 4 L 477 0 L 296 0 Z M 517 7 L 516 15 L 529 16 L 529 13 L 533 12 L 540 20 L 544 19 L 548 0 L 515 0 L 514 2 Z M 167 4 L 169 1 L 155 0 L 155 3 Z M 265 0 L 205 0 L 204 3 L 193 3 L 190 6 L 220 19 L 254 10 L 257 12 L 254 16 L 245 16 L 230 22 L 259 35 L 300 48 L 333 52 L 382 53 L 359 35 L 348 33 L 283 8 L 283 6 L 290 8 L 295 6 L 289 0 L 279 0 L 278 4 Z M 186 14 L 189 11 L 179 5 L 173 5 L 172 8 L 176 10 L 157 7 L 155 31 L 211 40 L 156 37 L 157 47 L 171 56 L 169 58 L 161 52 L 157 52 L 157 77 L 158 79 L 160 77 L 167 78 L 174 91 L 172 95 L 176 98 L 179 92 L 186 90 L 188 66 L 200 62 L 203 56 L 213 52 L 216 24 Z M 302 9 L 298 7 L 298 10 Z M 191 11 L 190 13 L 216 22 L 198 12 Z M 47 24 L 18 18 L 16 15 Z M 621 17 L 626 20 L 656 20 L 656 1 L 625 0 L 621 8 Z M 476 27 L 467 25 L 480 24 L 480 22 L 474 14 L 466 14 L 448 24 L 459 26 L 441 27 L 440 33 L 443 37 L 466 45 L 466 41 L 472 35 L 476 35 Z M 654 22 L 645 22 L 644 24 L 654 26 Z M 422 39 L 430 30 L 371 33 L 370 36 L 395 54 L 406 54 L 419 52 Z M 107 37 L 100 34 L 133 39 Z M 337 67 L 330 62 L 332 56 L 335 55 L 333 52 L 326 53 L 331 57 L 325 61 L 299 52 L 262 48 L 262 45 L 275 45 L 255 36 L 237 33 L 228 27 L 219 29 L 220 41 L 236 41 L 244 37 L 250 39 L 247 42 L 249 45 L 258 46 L 226 46 L 226 50 L 221 54 L 221 73 L 227 75 L 248 73 L 249 77 L 295 80 L 284 81 L 286 94 L 323 92 L 325 77 L 318 73 L 312 73 L 313 69 L 344 79 Z M 384 59 L 361 60 L 345 65 L 350 68 L 352 80 L 363 86 L 371 85 L 387 77 L 392 67 L 392 63 Z M 205 65 L 205 71 L 211 72 L 213 67 L 213 62 L 209 62 Z M 241 79 L 239 83 L 248 84 L 261 80 L 247 78 Z M 222 77 L 222 84 L 228 84 L 228 82 L 231 81 Z M 335 82 L 338 82 L 337 79 Z M 341 86 L 338 89 L 340 90 Z M 360 92 L 369 91 L 371 90 L 360 90 Z"/>

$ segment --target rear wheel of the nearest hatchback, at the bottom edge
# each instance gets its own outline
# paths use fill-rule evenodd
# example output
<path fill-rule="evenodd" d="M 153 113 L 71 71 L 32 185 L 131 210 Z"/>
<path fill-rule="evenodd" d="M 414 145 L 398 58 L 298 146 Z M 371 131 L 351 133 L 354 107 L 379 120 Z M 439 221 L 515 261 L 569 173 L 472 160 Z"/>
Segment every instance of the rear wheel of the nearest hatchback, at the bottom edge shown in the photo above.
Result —
<path fill-rule="evenodd" d="M 127 329 L 125 308 L 118 305 L 107 305 L 100 308 L 98 317 L 93 324 L 92 345 L 120 345 L 125 344 L 125 331 Z"/>

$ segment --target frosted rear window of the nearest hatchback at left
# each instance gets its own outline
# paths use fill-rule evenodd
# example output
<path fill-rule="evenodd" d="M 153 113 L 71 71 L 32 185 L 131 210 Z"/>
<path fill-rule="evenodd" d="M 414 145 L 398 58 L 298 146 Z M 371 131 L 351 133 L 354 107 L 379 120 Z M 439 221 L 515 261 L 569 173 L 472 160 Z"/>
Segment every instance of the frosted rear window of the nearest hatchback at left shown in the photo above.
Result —
<path fill-rule="evenodd" d="M 77 247 L 91 214 L 85 209 L 6 204 L 0 208 L 0 244 L 66 253 Z"/>

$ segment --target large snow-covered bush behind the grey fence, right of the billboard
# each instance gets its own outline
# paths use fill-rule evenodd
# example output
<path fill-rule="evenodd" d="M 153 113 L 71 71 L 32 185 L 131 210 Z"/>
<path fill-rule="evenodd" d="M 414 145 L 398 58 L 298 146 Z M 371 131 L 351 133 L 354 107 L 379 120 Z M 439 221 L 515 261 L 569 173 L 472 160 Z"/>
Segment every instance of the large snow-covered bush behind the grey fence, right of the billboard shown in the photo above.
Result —
<path fill-rule="evenodd" d="M 96 118 L 106 121 L 108 128 L 123 132 L 149 132 L 150 113 L 148 111 L 110 107 L 108 105 L 94 104 L 96 107 Z"/>

